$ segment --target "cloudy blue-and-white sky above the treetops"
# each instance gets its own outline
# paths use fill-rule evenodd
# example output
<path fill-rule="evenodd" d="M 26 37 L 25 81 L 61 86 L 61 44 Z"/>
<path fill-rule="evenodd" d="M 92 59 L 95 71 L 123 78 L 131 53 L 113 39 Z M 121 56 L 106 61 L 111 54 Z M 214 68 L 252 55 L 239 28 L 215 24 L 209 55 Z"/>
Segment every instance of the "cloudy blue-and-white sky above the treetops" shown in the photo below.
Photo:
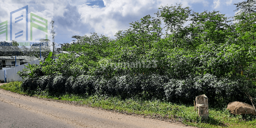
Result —
<path fill-rule="evenodd" d="M 1 0 L 0 1 L 0 41 L 6 41 L 5 30 L 1 30 L 2 22 L 7 21 L 7 42 L 38 42 L 41 38 L 52 41 L 51 24 L 54 21 L 54 37 L 56 44 L 71 43 L 72 36 L 90 36 L 96 32 L 110 38 L 119 30 L 129 28 L 129 23 L 138 21 L 146 15 L 155 17 L 159 7 L 181 3 L 183 7 L 190 7 L 191 12 L 220 11 L 226 17 L 235 15 L 235 3 L 243 0 Z M 12 13 L 28 5 L 26 9 Z M 41 17 L 35 17 L 34 15 Z M 12 29 L 11 18 L 12 15 Z M 28 27 L 26 28 L 26 15 Z M 31 15 L 32 20 L 31 21 Z M 42 20 L 42 18 L 44 21 Z M 20 21 L 18 21 L 20 20 Z M 41 21 L 41 23 L 37 22 Z M 31 23 L 33 22 L 33 23 Z M 43 24 L 44 25 L 43 25 Z M 37 27 L 31 27 L 37 24 Z M 42 26 L 38 29 L 38 26 Z M 2 28 L 1 28 L 2 27 Z M 31 34 L 32 28 L 32 34 Z M 43 28 L 46 30 L 43 31 Z M 26 29 L 28 32 L 26 33 Z M 12 33 L 10 33 L 10 30 Z M 22 36 L 20 36 L 22 34 Z M 26 38 L 28 35 L 28 40 Z M 32 35 L 32 37 L 31 37 Z M 20 37 L 17 37 L 20 36 Z M 17 38 L 15 38 L 17 37 Z M 31 41 L 32 39 L 32 41 Z M 57 46 L 59 47 L 59 46 Z"/>

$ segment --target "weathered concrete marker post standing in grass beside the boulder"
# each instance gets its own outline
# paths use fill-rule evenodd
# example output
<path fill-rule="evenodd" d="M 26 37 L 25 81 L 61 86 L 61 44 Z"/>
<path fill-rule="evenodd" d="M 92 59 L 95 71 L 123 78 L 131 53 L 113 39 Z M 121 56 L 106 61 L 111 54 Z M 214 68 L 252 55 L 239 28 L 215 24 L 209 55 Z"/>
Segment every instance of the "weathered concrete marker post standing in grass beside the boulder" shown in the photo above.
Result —
<path fill-rule="evenodd" d="M 207 119 L 209 117 L 208 98 L 206 95 L 196 97 L 196 102 L 194 101 L 194 108 L 198 115 L 203 119 Z"/>

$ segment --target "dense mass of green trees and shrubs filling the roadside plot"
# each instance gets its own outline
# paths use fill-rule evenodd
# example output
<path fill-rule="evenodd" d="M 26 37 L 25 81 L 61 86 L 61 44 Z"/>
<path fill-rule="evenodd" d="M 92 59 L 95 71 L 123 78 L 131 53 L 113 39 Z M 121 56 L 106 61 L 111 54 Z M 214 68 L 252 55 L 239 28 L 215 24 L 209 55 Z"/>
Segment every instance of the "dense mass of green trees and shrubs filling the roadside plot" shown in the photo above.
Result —
<path fill-rule="evenodd" d="M 251 104 L 245 92 L 256 97 L 256 1 L 235 5 L 239 12 L 230 18 L 219 11 L 191 13 L 180 4 L 161 6 L 155 17 L 130 23 L 115 39 L 73 36 L 76 41 L 63 49 L 79 57 L 60 54 L 52 60 L 49 54 L 41 65 L 29 65 L 18 73 L 21 89 L 185 105 L 206 94 L 214 109 L 233 101 Z"/>

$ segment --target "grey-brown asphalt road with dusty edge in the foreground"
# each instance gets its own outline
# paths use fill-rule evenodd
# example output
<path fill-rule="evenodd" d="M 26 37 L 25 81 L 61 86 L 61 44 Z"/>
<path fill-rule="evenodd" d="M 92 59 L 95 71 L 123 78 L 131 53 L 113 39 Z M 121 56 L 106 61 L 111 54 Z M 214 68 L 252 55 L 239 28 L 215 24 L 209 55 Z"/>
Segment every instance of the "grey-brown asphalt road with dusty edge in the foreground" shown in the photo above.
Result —
<path fill-rule="evenodd" d="M 192 128 L 0 89 L 0 128 Z"/>

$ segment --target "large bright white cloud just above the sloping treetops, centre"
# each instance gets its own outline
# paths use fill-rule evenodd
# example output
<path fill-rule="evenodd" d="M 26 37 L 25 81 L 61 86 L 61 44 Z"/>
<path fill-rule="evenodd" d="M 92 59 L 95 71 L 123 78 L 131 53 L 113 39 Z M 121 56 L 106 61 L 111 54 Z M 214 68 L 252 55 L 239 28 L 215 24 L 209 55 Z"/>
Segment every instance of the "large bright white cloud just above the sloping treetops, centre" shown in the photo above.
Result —
<path fill-rule="evenodd" d="M 92 7 L 87 4 L 79 5 L 78 12 L 81 21 L 90 24 L 96 33 L 104 33 L 114 38 L 118 30 L 125 30 L 132 21 L 140 20 L 145 15 L 155 16 L 158 7 L 167 5 L 164 0 L 103 0 L 106 7 Z M 176 4 L 184 1 L 168 1 L 168 4 Z"/>

